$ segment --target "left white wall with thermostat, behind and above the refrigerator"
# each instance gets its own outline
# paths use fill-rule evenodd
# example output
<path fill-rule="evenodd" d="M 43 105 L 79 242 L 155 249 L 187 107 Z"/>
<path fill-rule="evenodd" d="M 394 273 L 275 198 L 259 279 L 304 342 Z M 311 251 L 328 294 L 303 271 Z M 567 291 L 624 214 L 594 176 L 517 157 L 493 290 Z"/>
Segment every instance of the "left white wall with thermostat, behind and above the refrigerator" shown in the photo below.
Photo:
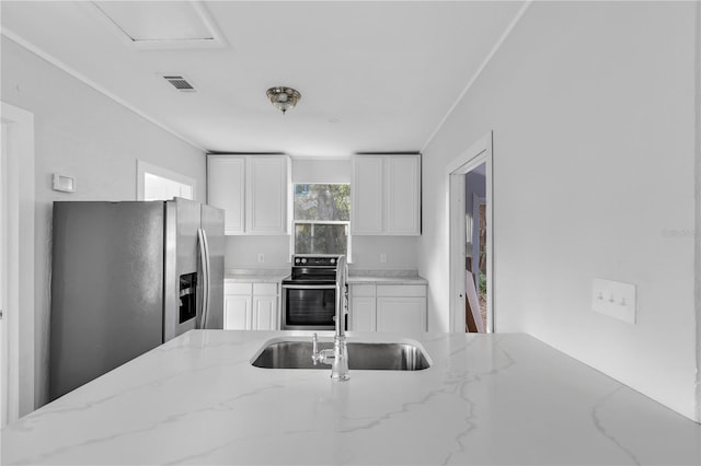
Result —
<path fill-rule="evenodd" d="M 36 404 L 46 403 L 50 215 L 54 200 L 135 200 L 137 159 L 197 182 L 205 199 L 205 154 L 2 36 L 2 101 L 34 114 L 36 170 Z M 77 193 L 51 190 L 54 172 Z"/>

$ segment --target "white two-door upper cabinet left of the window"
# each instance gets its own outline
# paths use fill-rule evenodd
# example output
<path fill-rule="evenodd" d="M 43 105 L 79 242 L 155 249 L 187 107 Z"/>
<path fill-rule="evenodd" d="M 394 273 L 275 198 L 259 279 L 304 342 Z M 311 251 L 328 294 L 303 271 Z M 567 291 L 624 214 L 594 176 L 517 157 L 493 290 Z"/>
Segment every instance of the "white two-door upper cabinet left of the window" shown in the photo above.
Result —
<path fill-rule="evenodd" d="M 207 203 L 225 210 L 225 233 L 288 234 L 287 155 L 208 155 Z"/>

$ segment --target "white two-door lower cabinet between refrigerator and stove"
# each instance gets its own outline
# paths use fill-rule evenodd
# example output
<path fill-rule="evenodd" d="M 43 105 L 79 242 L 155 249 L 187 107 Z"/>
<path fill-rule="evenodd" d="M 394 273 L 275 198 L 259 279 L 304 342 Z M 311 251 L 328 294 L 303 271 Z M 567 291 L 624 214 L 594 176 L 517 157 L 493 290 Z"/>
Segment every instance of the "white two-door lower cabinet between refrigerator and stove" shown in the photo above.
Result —
<path fill-rule="evenodd" d="M 227 330 L 279 329 L 277 283 L 226 283 L 223 328 Z"/>

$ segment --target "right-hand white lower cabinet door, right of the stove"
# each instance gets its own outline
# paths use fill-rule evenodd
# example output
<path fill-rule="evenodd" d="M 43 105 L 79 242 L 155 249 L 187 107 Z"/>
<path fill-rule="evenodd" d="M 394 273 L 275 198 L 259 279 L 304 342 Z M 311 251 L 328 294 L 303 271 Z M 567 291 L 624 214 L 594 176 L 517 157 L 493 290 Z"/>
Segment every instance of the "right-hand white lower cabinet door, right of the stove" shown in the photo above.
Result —
<path fill-rule="evenodd" d="M 426 331 L 426 298 L 378 298 L 377 330 L 400 334 Z"/>

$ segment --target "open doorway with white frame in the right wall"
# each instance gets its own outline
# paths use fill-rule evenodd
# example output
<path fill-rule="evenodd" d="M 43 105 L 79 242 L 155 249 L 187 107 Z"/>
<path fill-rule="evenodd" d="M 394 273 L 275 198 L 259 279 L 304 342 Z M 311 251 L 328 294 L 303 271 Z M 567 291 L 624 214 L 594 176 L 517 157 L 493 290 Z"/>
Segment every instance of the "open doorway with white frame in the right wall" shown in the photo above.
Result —
<path fill-rule="evenodd" d="M 448 166 L 450 323 L 494 331 L 492 132 Z"/>

